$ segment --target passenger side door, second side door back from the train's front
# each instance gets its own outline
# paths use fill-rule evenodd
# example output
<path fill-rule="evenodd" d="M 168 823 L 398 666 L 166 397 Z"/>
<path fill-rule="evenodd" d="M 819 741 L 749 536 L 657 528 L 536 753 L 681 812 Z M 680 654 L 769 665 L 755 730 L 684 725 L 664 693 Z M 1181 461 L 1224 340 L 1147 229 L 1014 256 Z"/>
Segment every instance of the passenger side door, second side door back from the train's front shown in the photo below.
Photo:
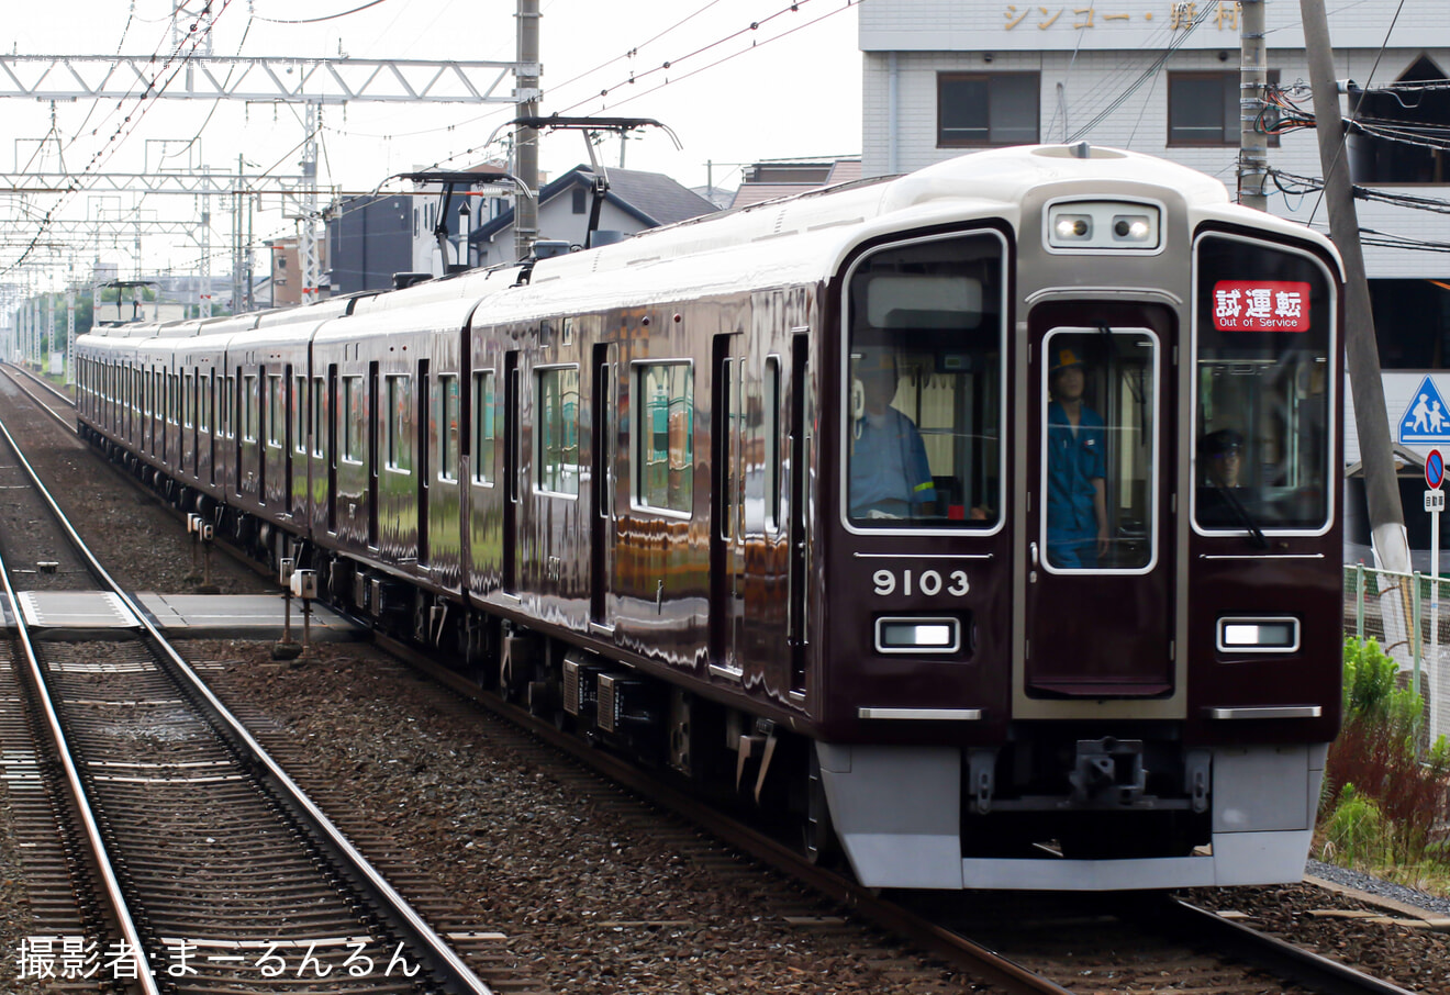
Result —
<path fill-rule="evenodd" d="M 745 590 L 745 364 L 741 335 L 715 337 L 710 363 L 710 664 L 740 677 Z"/>

